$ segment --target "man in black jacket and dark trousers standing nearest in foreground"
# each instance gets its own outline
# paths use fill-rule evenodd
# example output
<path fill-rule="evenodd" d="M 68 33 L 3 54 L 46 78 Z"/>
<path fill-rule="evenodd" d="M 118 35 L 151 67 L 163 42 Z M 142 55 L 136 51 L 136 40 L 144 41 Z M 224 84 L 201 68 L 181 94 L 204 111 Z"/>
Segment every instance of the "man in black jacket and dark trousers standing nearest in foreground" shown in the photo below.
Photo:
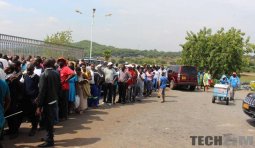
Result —
<path fill-rule="evenodd" d="M 45 143 L 38 147 L 54 146 L 54 116 L 57 108 L 57 101 L 61 94 L 61 81 L 57 71 L 53 69 L 54 59 L 47 59 L 44 62 L 45 71 L 39 81 L 38 107 L 36 114 L 43 114 L 47 137 Z"/>

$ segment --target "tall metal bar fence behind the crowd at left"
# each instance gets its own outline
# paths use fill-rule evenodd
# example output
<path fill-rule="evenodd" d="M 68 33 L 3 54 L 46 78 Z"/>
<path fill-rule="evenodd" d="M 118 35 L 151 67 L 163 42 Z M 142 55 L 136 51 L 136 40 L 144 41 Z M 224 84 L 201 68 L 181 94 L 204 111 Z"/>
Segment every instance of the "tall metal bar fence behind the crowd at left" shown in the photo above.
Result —
<path fill-rule="evenodd" d="M 74 46 L 51 44 L 40 40 L 0 34 L 0 53 L 20 56 L 43 56 L 57 58 L 63 56 L 71 59 L 85 57 L 84 49 Z"/>

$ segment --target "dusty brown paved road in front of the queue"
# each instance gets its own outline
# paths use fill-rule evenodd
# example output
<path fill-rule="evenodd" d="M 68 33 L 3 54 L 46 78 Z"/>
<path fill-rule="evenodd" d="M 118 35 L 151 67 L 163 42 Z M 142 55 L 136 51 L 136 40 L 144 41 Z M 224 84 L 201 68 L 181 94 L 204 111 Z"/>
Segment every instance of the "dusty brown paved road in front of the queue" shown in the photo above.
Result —
<path fill-rule="evenodd" d="M 196 147 L 190 136 L 254 136 L 255 121 L 241 108 L 247 93 L 237 92 L 236 101 L 228 106 L 212 104 L 211 92 L 168 91 L 166 103 L 154 96 L 142 103 L 90 109 L 56 127 L 56 147 L 183 148 Z M 27 136 L 28 128 L 23 124 L 16 140 L 5 137 L 4 146 L 40 144 L 45 133 L 31 138 Z M 255 139 L 250 147 L 254 146 Z"/>

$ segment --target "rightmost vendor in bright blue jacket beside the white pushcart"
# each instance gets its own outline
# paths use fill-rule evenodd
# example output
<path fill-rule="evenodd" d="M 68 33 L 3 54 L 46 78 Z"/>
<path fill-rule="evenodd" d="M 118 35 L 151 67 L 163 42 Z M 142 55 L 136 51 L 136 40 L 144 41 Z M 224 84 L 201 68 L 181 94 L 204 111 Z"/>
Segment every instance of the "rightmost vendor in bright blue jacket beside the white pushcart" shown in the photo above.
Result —
<path fill-rule="evenodd" d="M 229 78 L 230 84 L 230 100 L 234 100 L 235 91 L 240 85 L 240 79 L 237 76 L 236 72 L 233 72 L 232 76 Z"/>

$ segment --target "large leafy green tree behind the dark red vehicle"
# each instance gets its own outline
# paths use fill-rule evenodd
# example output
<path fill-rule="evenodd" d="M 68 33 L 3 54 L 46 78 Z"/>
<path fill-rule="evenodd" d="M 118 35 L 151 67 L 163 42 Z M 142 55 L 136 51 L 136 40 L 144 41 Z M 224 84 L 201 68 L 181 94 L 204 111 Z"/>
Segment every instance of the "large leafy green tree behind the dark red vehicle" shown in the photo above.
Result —
<path fill-rule="evenodd" d="M 241 72 L 247 66 L 246 54 L 251 53 L 254 46 L 249 43 L 249 37 L 241 30 L 224 28 L 212 34 L 211 29 L 203 28 L 198 33 L 187 32 L 186 42 L 181 45 L 181 63 L 207 68 L 213 77 L 237 71 Z"/>

